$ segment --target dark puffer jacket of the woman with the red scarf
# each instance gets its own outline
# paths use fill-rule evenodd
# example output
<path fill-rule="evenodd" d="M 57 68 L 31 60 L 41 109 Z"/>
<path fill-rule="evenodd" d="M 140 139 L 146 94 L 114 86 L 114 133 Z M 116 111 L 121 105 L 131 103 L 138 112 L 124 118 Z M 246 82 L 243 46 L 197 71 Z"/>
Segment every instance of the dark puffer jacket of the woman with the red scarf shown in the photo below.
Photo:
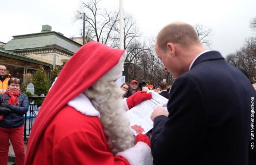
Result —
<path fill-rule="evenodd" d="M 4 93 L 5 95 L 5 102 L 8 103 L 8 100 L 10 98 L 9 95 Z M 2 121 L 0 121 L 0 127 L 3 128 L 17 128 L 24 124 L 24 117 L 23 115 L 27 113 L 28 106 L 29 106 L 29 100 L 28 96 L 24 93 L 20 93 L 18 96 L 18 100 L 20 103 L 20 106 L 14 106 L 11 105 L 10 109 L 12 113 L 9 115 L 5 115 Z M 3 101 L 3 95 L 0 95 L 0 102 Z"/>

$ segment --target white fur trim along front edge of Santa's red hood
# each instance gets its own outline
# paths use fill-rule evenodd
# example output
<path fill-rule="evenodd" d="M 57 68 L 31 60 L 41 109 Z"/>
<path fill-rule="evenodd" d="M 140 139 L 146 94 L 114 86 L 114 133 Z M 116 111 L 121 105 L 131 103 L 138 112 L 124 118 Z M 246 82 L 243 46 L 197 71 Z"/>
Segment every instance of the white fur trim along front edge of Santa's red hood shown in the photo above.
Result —
<path fill-rule="evenodd" d="M 123 52 L 118 64 L 115 65 L 112 69 L 110 69 L 104 76 L 102 76 L 101 80 L 117 80 L 119 77 L 122 76 L 123 64 L 125 62 L 127 52 Z"/>

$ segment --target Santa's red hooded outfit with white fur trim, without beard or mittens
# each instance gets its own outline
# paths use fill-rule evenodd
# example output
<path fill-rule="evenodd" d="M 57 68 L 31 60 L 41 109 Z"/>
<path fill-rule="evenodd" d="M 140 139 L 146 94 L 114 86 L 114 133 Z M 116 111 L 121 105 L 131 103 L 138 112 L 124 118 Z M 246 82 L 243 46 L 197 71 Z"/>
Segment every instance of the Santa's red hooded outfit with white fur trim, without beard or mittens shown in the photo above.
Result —
<path fill-rule="evenodd" d="M 92 105 L 81 106 L 87 111 L 78 112 L 79 109 L 69 104 L 79 94 L 82 96 L 81 93 L 100 78 L 116 80 L 120 77 L 122 71 L 116 71 L 122 70 L 121 64 L 126 55 L 124 52 L 98 42 L 89 42 L 72 56 L 47 94 L 36 117 L 29 137 L 25 165 L 129 165 L 128 162 L 131 165 L 152 164 L 151 150 L 141 141 L 134 147 L 118 152 L 117 155 L 120 156 L 112 155 L 100 123 L 99 112 L 91 111 L 94 109 Z M 95 67 L 96 64 L 101 67 Z M 138 159 L 134 159 L 135 157 Z"/>

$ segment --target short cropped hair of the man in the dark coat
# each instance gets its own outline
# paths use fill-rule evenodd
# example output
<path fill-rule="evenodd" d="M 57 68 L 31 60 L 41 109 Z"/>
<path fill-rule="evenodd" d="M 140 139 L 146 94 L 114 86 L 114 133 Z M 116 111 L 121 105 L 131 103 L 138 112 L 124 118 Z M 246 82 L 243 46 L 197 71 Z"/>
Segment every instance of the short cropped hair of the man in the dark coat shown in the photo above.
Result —
<path fill-rule="evenodd" d="M 182 46 L 200 44 L 196 30 L 190 24 L 176 22 L 165 26 L 157 35 L 157 46 L 161 50 L 166 50 L 169 42 L 178 43 Z"/>

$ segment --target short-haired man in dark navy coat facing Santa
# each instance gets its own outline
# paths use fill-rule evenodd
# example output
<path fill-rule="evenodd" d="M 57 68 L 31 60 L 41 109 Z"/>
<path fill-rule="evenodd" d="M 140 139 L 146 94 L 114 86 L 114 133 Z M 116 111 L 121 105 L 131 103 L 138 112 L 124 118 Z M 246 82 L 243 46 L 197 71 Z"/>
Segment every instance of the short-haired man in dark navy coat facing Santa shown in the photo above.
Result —
<path fill-rule="evenodd" d="M 248 78 L 183 22 L 165 26 L 155 49 L 176 78 L 168 112 L 151 114 L 155 165 L 248 165 L 255 101 Z"/>

